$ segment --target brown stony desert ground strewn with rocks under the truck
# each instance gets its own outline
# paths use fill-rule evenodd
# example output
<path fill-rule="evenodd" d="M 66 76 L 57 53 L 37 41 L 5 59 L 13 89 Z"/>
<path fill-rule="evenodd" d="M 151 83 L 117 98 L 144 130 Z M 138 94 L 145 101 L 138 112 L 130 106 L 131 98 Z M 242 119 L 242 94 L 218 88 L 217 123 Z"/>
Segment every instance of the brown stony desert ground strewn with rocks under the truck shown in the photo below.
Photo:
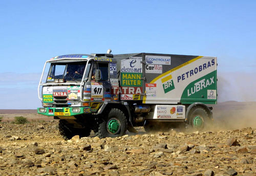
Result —
<path fill-rule="evenodd" d="M 63 140 L 58 121 L 0 123 L 0 175 L 256 175 L 256 129 Z"/>

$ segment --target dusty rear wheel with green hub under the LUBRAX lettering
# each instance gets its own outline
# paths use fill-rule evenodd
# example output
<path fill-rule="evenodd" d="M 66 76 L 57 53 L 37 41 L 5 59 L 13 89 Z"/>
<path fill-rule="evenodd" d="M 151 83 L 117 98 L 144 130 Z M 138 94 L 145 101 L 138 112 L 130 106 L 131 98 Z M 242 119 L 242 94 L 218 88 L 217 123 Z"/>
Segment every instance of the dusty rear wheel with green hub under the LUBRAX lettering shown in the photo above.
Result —
<path fill-rule="evenodd" d="M 190 111 L 188 117 L 188 127 L 190 129 L 203 130 L 210 126 L 211 120 L 203 107 L 193 107 Z M 197 123 L 197 120 L 200 123 Z"/>

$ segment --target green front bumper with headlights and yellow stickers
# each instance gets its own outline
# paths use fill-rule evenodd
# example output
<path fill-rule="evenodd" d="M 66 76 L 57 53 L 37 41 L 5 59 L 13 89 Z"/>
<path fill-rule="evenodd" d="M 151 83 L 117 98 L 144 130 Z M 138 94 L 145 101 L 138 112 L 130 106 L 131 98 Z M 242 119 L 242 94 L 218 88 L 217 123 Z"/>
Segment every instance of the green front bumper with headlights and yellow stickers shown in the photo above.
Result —
<path fill-rule="evenodd" d="M 90 107 L 38 107 L 37 113 L 46 116 L 76 116 L 91 113 Z"/>

